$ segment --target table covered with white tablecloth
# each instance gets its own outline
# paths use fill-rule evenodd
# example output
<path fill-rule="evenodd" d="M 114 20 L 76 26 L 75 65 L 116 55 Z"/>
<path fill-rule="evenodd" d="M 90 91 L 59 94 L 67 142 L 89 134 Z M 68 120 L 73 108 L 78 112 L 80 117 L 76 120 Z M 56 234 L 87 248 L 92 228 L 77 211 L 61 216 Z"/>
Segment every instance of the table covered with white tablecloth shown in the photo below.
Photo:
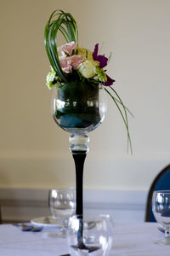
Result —
<path fill-rule="evenodd" d="M 156 223 L 114 224 L 111 256 L 169 256 L 170 246 L 154 243 L 164 234 Z M 54 230 L 23 232 L 12 224 L 0 225 L 0 256 L 59 256 L 68 253 L 65 238 L 49 237 Z"/>

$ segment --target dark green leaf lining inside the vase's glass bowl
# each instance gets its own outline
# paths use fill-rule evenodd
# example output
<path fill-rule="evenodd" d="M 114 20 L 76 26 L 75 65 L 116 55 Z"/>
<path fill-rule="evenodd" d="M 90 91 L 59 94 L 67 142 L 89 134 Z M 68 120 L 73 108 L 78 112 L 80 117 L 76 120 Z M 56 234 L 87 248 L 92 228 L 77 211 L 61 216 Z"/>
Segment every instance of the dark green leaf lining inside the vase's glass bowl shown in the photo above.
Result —
<path fill-rule="evenodd" d="M 58 88 L 59 108 L 54 118 L 64 128 L 87 128 L 97 125 L 99 114 L 99 85 L 70 82 Z"/>

